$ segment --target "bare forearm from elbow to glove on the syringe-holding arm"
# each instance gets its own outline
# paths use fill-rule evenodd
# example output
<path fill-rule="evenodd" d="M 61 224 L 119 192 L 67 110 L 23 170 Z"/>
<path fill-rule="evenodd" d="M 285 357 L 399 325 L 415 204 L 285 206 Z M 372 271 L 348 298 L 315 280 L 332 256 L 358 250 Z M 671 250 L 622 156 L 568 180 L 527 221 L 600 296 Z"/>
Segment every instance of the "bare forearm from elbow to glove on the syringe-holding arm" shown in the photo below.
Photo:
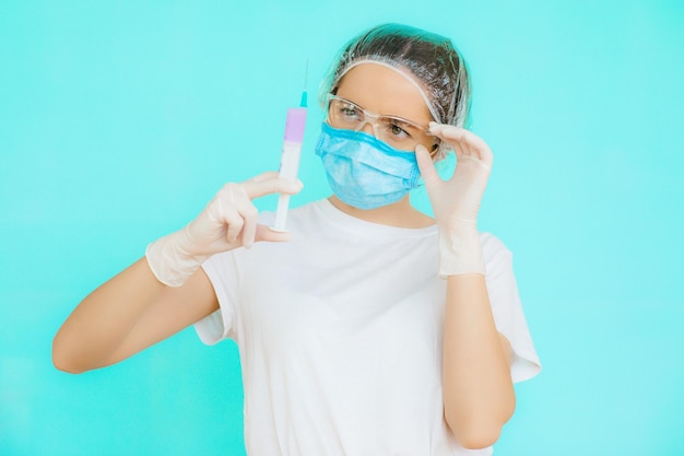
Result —
<path fill-rule="evenodd" d="M 164 292 L 141 258 L 85 297 L 55 336 L 55 365 L 84 372 L 108 364 L 141 315 Z"/>

